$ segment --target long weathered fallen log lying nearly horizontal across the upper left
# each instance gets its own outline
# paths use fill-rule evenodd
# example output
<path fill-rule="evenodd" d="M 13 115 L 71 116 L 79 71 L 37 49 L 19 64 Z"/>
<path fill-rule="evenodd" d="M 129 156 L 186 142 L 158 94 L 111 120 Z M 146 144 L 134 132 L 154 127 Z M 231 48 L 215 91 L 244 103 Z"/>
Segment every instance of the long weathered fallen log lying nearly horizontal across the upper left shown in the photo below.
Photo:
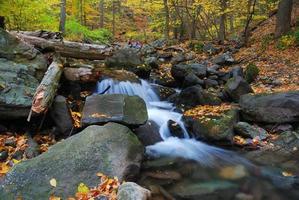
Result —
<path fill-rule="evenodd" d="M 112 47 L 107 45 L 86 44 L 79 42 L 46 40 L 41 37 L 34 37 L 21 33 L 12 32 L 21 40 L 33 45 L 41 52 L 55 51 L 62 57 L 77 59 L 104 60 L 112 54 Z"/>

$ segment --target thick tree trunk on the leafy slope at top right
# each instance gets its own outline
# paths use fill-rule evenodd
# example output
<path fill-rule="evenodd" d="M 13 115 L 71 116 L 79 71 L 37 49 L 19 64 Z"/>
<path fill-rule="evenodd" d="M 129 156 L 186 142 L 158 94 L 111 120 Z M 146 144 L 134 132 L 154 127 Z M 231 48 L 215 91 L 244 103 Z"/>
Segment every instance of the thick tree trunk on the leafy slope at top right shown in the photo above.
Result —
<path fill-rule="evenodd" d="M 293 0 L 281 0 L 278 5 L 275 36 L 279 37 L 291 30 Z"/>

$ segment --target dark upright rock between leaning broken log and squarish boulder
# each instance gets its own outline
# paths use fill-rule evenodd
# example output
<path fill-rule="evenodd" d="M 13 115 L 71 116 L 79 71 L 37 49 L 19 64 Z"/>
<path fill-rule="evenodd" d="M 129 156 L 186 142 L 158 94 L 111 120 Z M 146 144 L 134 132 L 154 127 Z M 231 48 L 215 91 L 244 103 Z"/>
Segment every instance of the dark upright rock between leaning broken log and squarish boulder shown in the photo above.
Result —
<path fill-rule="evenodd" d="M 50 114 L 57 131 L 62 135 L 69 135 L 73 128 L 73 121 L 65 97 L 61 95 L 55 97 Z"/>

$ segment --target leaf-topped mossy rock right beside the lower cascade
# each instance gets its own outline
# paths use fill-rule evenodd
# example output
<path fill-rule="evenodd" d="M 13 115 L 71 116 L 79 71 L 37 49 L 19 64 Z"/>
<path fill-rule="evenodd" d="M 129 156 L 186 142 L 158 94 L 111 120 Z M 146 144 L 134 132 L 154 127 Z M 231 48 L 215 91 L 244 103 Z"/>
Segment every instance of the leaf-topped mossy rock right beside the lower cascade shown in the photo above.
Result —
<path fill-rule="evenodd" d="M 184 116 L 187 129 L 197 138 L 211 141 L 231 141 L 234 136 L 234 126 L 239 120 L 238 110 L 232 109 L 220 116 L 192 118 Z"/>

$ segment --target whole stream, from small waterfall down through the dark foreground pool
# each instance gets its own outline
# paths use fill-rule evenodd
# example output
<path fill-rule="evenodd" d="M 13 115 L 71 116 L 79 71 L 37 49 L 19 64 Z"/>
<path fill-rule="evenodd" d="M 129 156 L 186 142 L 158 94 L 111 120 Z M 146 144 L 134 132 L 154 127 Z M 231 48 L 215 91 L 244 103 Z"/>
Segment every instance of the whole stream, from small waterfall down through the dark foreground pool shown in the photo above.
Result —
<path fill-rule="evenodd" d="M 149 82 L 140 80 L 140 83 L 132 83 L 129 81 L 119 82 L 113 79 L 105 79 L 98 82 L 95 93 L 101 93 L 109 86 L 110 88 L 106 92 L 107 94 L 138 95 L 145 101 L 148 118 L 158 125 L 159 134 L 163 139 L 163 141 L 157 142 L 154 145 L 146 146 L 146 155 L 148 157 L 153 160 L 158 160 L 158 162 L 159 159 L 165 157 L 179 158 L 195 162 L 195 164 L 192 164 L 193 167 L 191 167 L 191 172 L 189 169 L 190 163 L 188 162 L 187 164 L 184 164 L 185 161 L 182 161 L 183 164 L 180 163 L 176 165 L 174 170 L 181 172 L 184 177 L 183 181 L 177 181 L 177 184 L 171 182 L 170 187 L 165 186 L 168 187 L 168 191 L 173 191 L 172 193 L 175 193 L 176 197 L 181 197 L 179 199 L 198 199 L 202 198 L 202 195 L 204 195 L 204 197 L 206 197 L 205 195 L 208 195 L 209 197 L 211 194 L 215 195 L 215 192 L 218 191 L 219 188 L 222 193 L 226 193 L 223 191 L 227 189 L 226 186 L 229 188 L 227 194 L 230 194 L 232 186 L 248 187 L 248 182 L 252 185 L 250 185 L 250 189 L 247 188 L 247 193 L 263 193 L 265 190 L 271 193 L 269 199 L 272 199 L 277 196 L 280 197 L 279 192 L 277 193 L 277 189 L 289 190 L 293 187 L 295 182 L 298 182 L 296 177 L 282 176 L 280 171 L 272 170 L 268 167 L 256 166 L 238 153 L 214 147 L 190 137 L 182 121 L 182 114 L 175 111 L 175 106 L 172 103 L 161 101 Z M 168 128 L 169 120 L 175 121 L 181 127 L 184 138 L 178 138 L 171 135 Z M 225 171 L 226 169 L 228 169 L 228 171 Z M 161 170 L 163 171 L 163 169 L 158 169 L 158 171 Z M 166 174 L 170 172 L 173 173 L 173 166 L 170 167 L 170 172 L 167 170 Z M 224 174 L 222 174 L 223 170 Z M 208 178 L 202 178 L 202 174 L 200 175 L 200 178 L 198 178 L 197 176 L 199 172 L 205 174 Z M 222 177 L 220 177 L 219 174 Z M 173 178 L 171 176 L 174 175 L 170 175 L 170 179 Z M 197 178 L 194 178 L 194 176 Z M 223 181 L 223 176 L 228 176 L 226 178 L 233 181 L 233 183 L 231 184 L 226 180 Z M 237 181 L 235 179 L 237 179 Z M 208 182 L 202 183 L 203 180 Z M 219 182 L 219 180 L 221 181 Z M 270 189 L 267 186 L 269 182 L 271 182 Z M 183 186 L 180 185 L 182 183 Z M 150 181 L 150 183 L 146 184 L 151 185 L 153 183 Z M 165 185 L 165 182 L 155 182 L 155 184 L 163 186 Z M 182 187 L 184 190 L 181 190 Z M 235 189 L 235 187 L 232 188 Z M 259 188 L 259 191 L 256 191 L 256 188 Z M 243 194 L 243 192 L 237 194 Z M 255 198 L 257 194 L 252 195 L 254 198 L 249 199 L 259 199 Z M 212 199 L 218 198 L 218 196 L 212 197 Z M 225 197 L 225 199 L 227 198 L 231 197 Z M 234 199 L 242 198 L 236 198 L 234 196 Z M 244 197 L 244 199 L 246 198 Z M 278 199 L 281 199 L 281 197 Z M 291 197 L 286 197 L 286 199 L 292 199 L 292 195 Z"/>

